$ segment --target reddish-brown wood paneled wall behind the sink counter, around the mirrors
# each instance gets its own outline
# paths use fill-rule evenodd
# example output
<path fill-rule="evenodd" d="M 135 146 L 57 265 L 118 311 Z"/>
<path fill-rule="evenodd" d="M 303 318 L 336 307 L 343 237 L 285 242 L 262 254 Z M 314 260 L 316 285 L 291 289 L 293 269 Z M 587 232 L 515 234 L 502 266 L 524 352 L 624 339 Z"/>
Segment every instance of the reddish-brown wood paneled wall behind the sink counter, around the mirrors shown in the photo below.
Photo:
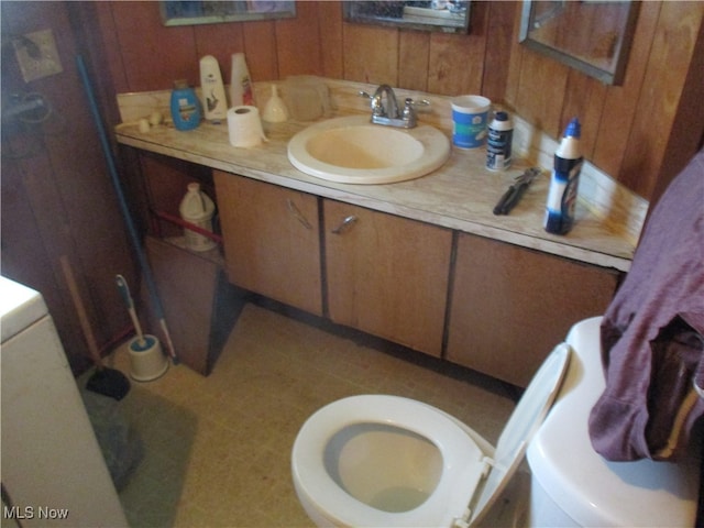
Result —
<path fill-rule="evenodd" d="M 469 35 L 349 24 L 341 2 L 299 1 L 289 20 L 165 28 L 156 2 L 98 2 L 114 91 L 198 84 L 212 54 L 226 82 L 244 52 L 254 80 L 315 74 L 442 95 L 482 94 L 558 138 L 583 122 L 585 154 L 651 199 L 704 132 L 704 2 L 642 2 L 623 86 L 604 86 L 518 44 L 521 2 L 472 4 Z M 697 63 L 698 61 L 698 63 Z M 688 127 L 679 127 L 686 119 Z"/>

